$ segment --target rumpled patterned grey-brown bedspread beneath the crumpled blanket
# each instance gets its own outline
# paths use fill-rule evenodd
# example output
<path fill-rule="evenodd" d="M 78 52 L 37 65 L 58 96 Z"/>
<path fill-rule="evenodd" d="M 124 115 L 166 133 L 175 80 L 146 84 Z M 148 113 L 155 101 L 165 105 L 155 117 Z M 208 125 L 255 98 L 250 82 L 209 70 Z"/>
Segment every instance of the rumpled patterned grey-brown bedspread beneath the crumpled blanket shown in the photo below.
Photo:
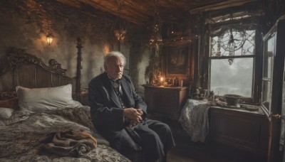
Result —
<path fill-rule="evenodd" d="M 0 161 L 129 161 L 103 139 L 90 121 L 90 107 L 62 108 L 48 112 L 14 112 L 0 126 Z M 98 145 L 78 156 L 40 153 L 43 141 L 57 131 L 81 129 L 90 132 Z"/>

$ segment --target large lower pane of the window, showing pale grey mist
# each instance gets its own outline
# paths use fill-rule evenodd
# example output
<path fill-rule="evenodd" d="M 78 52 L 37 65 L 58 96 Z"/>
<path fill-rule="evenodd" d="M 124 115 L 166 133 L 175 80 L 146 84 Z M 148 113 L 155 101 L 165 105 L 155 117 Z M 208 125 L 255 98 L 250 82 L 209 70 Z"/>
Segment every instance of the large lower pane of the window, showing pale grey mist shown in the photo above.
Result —
<path fill-rule="evenodd" d="M 234 58 L 232 65 L 229 65 L 228 59 L 212 59 L 210 90 L 217 95 L 252 97 L 253 67 L 253 58 Z"/>

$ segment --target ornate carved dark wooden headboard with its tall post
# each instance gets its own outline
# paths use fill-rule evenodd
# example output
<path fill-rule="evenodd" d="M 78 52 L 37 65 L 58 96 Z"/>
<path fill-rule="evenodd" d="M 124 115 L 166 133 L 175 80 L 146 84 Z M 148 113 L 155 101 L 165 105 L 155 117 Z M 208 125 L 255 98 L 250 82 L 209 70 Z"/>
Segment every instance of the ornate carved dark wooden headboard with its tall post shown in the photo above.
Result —
<path fill-rule="evenodd" d="M 61 64 L 51 59 L 48 65 L 41 58 L 26 53 L 21 48 L 9 48 L 8 53 L 0 60 L 0 92 L 14 91 L 17 85 L 29 88 L 57 87 L 73 85 L 75 98 L 81 93 L 81 48 L 82 41 L 78 38 L 78 64 L 76 77 L 67 77 Z"/>

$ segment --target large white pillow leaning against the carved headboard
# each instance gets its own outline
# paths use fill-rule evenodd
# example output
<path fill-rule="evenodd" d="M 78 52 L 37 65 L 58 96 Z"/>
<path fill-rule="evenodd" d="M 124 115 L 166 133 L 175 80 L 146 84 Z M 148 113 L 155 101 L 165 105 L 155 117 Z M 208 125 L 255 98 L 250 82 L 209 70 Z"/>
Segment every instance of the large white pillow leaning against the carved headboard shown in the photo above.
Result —
<path fill-rule="evenodd" d="M 33 112 L 44 112 L 61 107 L 82 107 L 80 102 L 72 99 L 72 85 L 47 88 L 26 88 L 17 86 L 19 107 Z"/>

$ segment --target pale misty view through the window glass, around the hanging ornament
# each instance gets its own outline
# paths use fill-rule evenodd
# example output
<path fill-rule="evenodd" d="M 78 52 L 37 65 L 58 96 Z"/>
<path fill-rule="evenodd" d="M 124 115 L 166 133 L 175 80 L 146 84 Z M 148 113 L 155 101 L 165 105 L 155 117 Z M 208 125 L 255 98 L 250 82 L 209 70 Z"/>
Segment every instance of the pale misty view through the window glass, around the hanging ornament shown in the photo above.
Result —
<path fill-rule="evenodd" d="M 245 43 L 242 48 L 234 51 L 232 65 L 229 65 L 229 52 L 219 48 L 218 36 L 213 36 L 211 40 L 210 59 L 210 90 L 215 95 L 241 95 L 242 97 L 252 97 L 254 78 L 254 38 L 255 31 L 245 31 Z M 222 55 L 217 55 L 221 51 Z M 244 57 L 245 56 L 245 57 Z"/>

